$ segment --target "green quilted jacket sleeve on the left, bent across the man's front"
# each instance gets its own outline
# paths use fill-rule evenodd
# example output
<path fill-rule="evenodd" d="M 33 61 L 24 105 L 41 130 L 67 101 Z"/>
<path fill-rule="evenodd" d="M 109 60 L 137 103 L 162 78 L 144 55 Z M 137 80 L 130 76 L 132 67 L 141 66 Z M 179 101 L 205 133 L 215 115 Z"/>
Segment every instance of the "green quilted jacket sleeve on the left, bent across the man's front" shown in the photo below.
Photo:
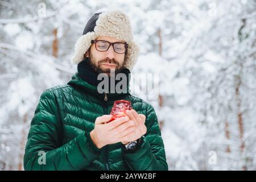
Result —
<path fill-rule="evenodd" d="M 51 90 L 46 90 L 31 121 L 24 155 L 25 170 L 80 170 L 100 154 L 89 133 L 82 133 L 60 146 L 60 122 L 56 97 Z"/>

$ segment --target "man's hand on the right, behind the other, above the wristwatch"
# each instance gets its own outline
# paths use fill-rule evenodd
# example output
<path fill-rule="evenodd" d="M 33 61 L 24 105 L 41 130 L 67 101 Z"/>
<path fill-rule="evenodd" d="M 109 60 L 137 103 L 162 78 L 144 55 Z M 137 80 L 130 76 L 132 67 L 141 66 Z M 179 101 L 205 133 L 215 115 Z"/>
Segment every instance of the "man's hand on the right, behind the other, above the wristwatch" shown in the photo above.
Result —
<path fill-rule="evenodd" d="M 130 121 L 134 121 L 135 125 L 134 132 L 123 135 L 119 138 L 122 144 L 127 144 L 131 141 L 141 138 L 147 132 L 147 127 L 145 126 L 146 116 L 144 114 L 138 114 L 134 109 L 127 110 L 126 115 L 129 117 Z"/>

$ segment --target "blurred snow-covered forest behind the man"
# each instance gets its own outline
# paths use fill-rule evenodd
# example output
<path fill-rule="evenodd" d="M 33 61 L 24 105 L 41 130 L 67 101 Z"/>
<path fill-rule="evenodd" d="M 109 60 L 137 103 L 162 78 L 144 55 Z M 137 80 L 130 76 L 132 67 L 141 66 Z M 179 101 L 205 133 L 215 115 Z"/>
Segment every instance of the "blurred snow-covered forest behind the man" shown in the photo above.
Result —
<path fill-rule="evenodd" d="M 255 0 L 0 0 L 0 170 L 23 170 L 43 90 L 67 83 L 96 12 L 125 11 L 159 73 L 155 107 L 170 170 L 256 170 Z"/>

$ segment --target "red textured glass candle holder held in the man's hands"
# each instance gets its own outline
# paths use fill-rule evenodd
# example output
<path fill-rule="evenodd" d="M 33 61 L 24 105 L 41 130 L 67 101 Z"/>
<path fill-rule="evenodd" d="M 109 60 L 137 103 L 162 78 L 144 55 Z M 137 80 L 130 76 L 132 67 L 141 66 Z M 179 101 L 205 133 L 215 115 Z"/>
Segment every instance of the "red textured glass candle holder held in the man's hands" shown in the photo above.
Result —
<path fill-rule="evenodd" d="M 110 114 L 113 115 L 113 117 L 112 119 L 110 119 L 110 121 L 113 121 L 117 118 L 125 117 L 126 110 L 131 110 L 131 109 L 133 108 L 131 107 L 130 101 L 126 101 L 126 100 L 114 101 L 114 106 L 112 107 L 112 110 L 110 112 Z"/>

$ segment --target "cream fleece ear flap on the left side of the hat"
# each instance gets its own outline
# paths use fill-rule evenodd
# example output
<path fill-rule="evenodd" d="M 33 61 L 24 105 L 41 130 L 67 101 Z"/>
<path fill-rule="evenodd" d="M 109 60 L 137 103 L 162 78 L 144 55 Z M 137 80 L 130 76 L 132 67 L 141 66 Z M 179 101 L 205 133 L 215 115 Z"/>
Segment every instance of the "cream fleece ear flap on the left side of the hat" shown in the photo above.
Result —
<path fill-rule="evenodd" d="M 82 35 L 75 44 L 75 54 L 72 57 L 72 63 L 79 64 L 84 60 L 86 51 L 92 46 L 92 40 L 97 39 L 95 32 L 88 32 Z"/>

